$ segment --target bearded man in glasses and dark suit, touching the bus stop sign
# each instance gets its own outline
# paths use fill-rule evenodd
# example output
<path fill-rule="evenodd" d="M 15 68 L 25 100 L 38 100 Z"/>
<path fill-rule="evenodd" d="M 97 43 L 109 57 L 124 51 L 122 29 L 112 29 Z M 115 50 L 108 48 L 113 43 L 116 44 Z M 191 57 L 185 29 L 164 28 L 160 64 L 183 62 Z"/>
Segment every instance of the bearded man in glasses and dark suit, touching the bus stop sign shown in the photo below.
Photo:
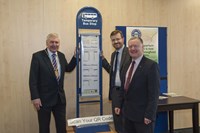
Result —
<path fill-rule="evenodd" d="M 102 56 L 102 65 L 103 68 L 110 74 L 110 88 L 109 88 L 109 100 L 112 100 L 112 112 L 113 120 L 115 125 L 115 130 L 118 133 L 123 132 L 123 122 L 122 122 L 122 113 L 115 114 L 115 98 L 118 98 L 116 94 L 117 91 L 121 88 L 120 80 L 120 71 L 124 67 L 124 64 L 130 59 L 128 48 L 124 46 L 124 36 L 121 31 L 114 30 L 110 34 L 110 39 L 112 42 L 115 51 L 111 54 L 111 62 L 108 61 Z M 117 59 L 117 60 L 116 60 Z"/>

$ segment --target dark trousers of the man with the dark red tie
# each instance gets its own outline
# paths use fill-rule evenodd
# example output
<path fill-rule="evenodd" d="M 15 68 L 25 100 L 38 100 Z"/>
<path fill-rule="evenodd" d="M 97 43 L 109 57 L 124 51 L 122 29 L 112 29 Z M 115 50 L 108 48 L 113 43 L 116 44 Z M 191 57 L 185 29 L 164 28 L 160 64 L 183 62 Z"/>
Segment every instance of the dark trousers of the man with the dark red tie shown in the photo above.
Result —
<path fill-rule="evenodd" d="M 134 122 L 124 118 L 124 133 L 154 133 L 155 122 L 146 125 L 144 122 Z"/>

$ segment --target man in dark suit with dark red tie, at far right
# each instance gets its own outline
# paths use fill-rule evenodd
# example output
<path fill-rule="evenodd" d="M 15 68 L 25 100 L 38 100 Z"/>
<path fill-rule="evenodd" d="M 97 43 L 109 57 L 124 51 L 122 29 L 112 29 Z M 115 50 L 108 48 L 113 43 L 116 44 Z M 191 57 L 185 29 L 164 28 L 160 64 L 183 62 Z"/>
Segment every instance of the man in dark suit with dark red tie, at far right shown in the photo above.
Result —
<path fill-rule="evenodd" d="M 132 59 L 120 73 L 123 89 L 115 108 L 121 112 L 123 104 L 125 133 L 154 133 L 154 122 L 160 90 L 158 64 L 143 55 L 144 45 L 140 37 L 128 42 Z"/>

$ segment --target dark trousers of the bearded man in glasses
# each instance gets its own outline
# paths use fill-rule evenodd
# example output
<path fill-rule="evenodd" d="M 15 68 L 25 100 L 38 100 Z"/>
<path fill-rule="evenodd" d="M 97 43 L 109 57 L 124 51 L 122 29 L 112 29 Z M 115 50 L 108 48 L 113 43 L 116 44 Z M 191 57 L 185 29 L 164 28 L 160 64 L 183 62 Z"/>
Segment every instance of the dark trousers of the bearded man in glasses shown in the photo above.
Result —
<path fill-rule="evenodd" d="M 112 89 L 112 114 L 113 114 L 113 123 L 115 126 L 115 131 L 117 133 L 124 133 L 123 132 L 123 113 L 121 110 L 121 113 L 119 115 L 115 114 L 115 98 L 118 98 L 118 91 L 119 91 L 119 87 L 113 87 Z"/>

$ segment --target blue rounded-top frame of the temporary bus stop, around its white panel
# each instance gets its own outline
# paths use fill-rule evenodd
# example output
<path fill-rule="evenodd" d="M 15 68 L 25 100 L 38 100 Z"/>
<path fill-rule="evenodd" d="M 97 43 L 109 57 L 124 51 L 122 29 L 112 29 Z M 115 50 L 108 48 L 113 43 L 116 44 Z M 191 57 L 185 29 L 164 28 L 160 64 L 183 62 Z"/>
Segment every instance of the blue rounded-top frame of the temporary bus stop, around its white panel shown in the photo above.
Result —
<path fill-rule="evenodd" d="M 79 30 L 98 30 L 99 31 L 99 51 L 102 51 L 102 17 L 100 12 L 93 7 L 84 7 L 79 10 L 76 16 L 76 46 L 79 48 L 81 44 L 81 37 Z M 87 32 L 86 32 L 87 33 Z M 80 51 L 79 51 L 80 52 Z M 77 52 L 77 57 L 80 57 Z M 99 53 L 99 96 L 100 100 L 100 115 L 103 114 L 103 98 L 102 98 L 102 61 Z M 81 64 L 80 58 L 77 58 L 77 69 L 76 69 L 76 117 L 80 116 L 80 104 L 91 103 L 97 101 L 84 101 L 80 102 L 80 96 L 82 92 L 81 86 Z"/>

